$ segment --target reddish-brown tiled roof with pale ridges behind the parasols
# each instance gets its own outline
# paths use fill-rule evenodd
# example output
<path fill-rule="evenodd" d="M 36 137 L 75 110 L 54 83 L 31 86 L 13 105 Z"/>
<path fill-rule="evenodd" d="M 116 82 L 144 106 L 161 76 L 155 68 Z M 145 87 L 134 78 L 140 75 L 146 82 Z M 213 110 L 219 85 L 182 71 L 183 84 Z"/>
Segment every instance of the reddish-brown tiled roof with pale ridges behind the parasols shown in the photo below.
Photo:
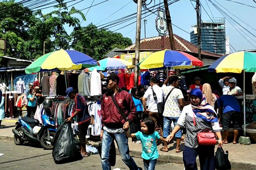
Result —
<path fill-rule="evenodd" d="M 180 36 L 177 36 L 176 34 L 173 34 L 173 36 L 174 36 L 175 50 L 198 53 L 198 48 L 196 45 L 190 43 L 189 41 L 185 40 Z M 164 48 L 171 49 L 169 35 L 165 36 L 163 41 L 164 41 Z M 140 41 L 140 50 L 161 50 L 161 49 L 162 49 L 161 36 L 146 38 Z M 135 44 L 127 47 L 126 50 L 135 50 Z M 214 57 L 223 56 L 223 54 L 216 54 L 216 53 L 212 53 L 204 50 L 201 50 L 201 54 L 214 56 Z"/>

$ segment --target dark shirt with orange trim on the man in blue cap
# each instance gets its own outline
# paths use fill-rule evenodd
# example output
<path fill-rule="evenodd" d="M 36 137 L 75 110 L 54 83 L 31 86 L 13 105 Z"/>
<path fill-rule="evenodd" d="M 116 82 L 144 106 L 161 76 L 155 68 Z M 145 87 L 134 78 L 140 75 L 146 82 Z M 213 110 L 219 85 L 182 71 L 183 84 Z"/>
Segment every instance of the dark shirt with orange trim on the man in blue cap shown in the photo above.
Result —
<path fill-rule="evenodd" d="M 87 103 L 82 95 L 76 94 L 75 96 L 75 111 L 80 111 L 78 114 L 78 124 L 82 124 L 91 119 Z"/>

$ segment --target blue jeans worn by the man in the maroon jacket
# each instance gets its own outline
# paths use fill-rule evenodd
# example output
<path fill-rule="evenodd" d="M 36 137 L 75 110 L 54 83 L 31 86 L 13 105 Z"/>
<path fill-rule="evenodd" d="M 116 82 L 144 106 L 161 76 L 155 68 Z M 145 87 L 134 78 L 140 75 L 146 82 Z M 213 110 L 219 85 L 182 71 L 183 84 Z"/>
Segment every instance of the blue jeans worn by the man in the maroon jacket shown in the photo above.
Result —
<path fill-rule="evenodd" d="M 112 141 L 115 139 L 117 143 L 117 147 L 120 153 L 120 156 L 123 162 L 129 167 L 131 170 L 138 170 L 139 167 L 136 165 L 132 157 L 129 155 L 129 147 L 128 147 L 128 138 L 124 133 L 108 133 L 107 131 L 103 132 L 102 137 L 102 149 L 101 149 L 101 164 L 103 170 L 111 170 L 111 166 L 109 163 L 109 151 Z"/>

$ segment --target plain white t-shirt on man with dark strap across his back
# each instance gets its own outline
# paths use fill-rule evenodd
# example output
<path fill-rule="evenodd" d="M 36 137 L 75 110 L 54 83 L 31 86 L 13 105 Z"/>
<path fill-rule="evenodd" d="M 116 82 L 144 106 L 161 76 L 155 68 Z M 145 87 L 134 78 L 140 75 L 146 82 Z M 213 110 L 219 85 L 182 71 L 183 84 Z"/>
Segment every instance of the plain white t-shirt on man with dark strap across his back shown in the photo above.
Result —
<path fill-rule="evenodd" d="M 154 89 L 154 92 L 156 94 L 157 100 L 154 99 L 153 96 L 153 91 L 151 88 L 147 89 L 147 91 L 145 92 L 143 98 L 146 98 L 148 100 L 148 110 L 150 112 L 155 112 L 157 113 L 157 103 L 160 103 L 163 101 L 163 92 L 161 87 L 159 87 L 158 85 L 154 85 L 152 87 Z"/>

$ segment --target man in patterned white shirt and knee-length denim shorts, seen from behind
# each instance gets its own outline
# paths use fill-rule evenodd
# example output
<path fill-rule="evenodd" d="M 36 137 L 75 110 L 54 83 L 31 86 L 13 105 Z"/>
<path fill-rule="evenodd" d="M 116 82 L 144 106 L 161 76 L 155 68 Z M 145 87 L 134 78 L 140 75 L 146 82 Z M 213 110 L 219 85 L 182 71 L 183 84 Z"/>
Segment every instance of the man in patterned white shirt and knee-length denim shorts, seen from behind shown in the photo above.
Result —
<path fill-rule="evenodd" d="M 169 83 L 169 86 L 167 84 Z M 162 86 L 163 95 L 165 97 L 165 109 L 163 111 L 163 138 L 170 134 L 171 123 L 174 126 L 181 115 L 183 108 L 183 94 L 182 91 L 176 88 L 179 85 L 179 77 L 172 75 L 165 80 Z M 176 134 L 176 153 L 181 152 L 180 143 L 182 132 L 179 130 Z M 168 152 L 168 144 L 164 142 L 164 147 L 160 149 L 162 152 Z"/>

